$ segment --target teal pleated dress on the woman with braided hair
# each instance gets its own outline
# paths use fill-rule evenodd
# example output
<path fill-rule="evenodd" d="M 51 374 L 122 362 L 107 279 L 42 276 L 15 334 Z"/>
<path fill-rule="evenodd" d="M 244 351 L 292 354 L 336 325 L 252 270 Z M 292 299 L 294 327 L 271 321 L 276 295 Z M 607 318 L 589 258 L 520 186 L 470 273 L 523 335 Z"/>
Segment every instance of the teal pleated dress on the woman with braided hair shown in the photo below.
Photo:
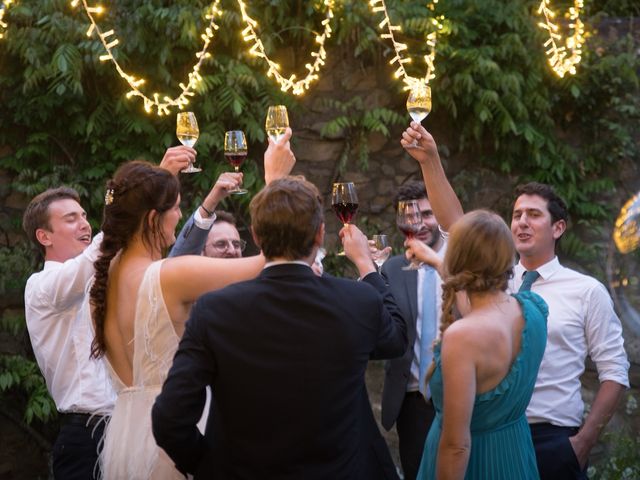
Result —
<path fill-rule="evenodd" d="M 525 320 L 520 353 L 509 373 L 493 389 L 476 395 L 471 417 L 471 455 L 465 480 L 538 480 L 536 456 L 525 410 L 531 400 L 547 344 L 547 304 L 533 292 L 514 295 Z M 429 382 L 436 416 L 422 454 L 419 479 L 436 478 L 442 430 L 443 387 L 440 345 Z"/>

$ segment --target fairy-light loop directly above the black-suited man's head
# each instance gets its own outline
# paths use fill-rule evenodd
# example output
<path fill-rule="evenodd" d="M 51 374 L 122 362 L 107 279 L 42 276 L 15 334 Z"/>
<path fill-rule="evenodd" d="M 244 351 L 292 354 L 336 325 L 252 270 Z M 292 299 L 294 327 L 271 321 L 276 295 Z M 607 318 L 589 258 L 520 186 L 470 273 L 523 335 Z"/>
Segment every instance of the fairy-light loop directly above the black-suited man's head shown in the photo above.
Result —
<path fill-rule="evenodd" d="M 264 50 L 262 40 L 260 40 L 256 31 L 258 22 L 249 16 L 249 14 L 247 13 L 247 6 L 243 0 L 238 0 L 238 5 L 240 6 L 242 20 L 247 25 L 244 30 L 242 30 L 242 37 L 245 42 L 253 43 L 252 47 L 249 49 L 249 54 L 263 58 L 265 62 L 267 62 L 267 64 L 269 65 L 267 76 L 274 77 L 280 84 L 280 89 L 283 92 L 288 92 L 289 90 L 291 90 L 294 95 L 302 95 L 306 90 L 309 89 L 309 86 L 313 81 L 320 78 L 318 76 L 318 73 L 320 72 L 322 66 L 325 64 L 327 52 L 324 48 L 324 43 L 329 37 L 331 37 L 331 19 L 333 18 L 334 0 L 324 0 L 324 5 L 327 9 L 327 14 L 324 20 L 322 20 L 324 31 L 321 34 L 316 35 L 315 40 L 318 44 L 318 51 L 311 52 L 311 56 L 315 58 L 315 61 L 313 63 L 305 64 L 305 68 L 308 70 L 308 73 L 301 80 L 296 80 L 295 74 L 291 74 L 289 78 L 286 78 L 280 73 L 280 65 L 271 60 Z"/>

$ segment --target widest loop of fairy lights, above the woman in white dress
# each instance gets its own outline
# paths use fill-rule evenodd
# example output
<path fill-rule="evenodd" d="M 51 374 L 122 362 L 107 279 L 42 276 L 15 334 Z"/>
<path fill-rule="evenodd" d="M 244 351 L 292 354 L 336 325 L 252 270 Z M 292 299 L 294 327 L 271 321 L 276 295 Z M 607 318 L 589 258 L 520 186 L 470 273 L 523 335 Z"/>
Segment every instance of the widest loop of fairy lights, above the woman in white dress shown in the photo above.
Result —
<path fill-rule="evenodd" d="M 218 30 L 218 25 L 215 23 L 216 16 L 220 16 L 222 13 L 218 8 L 220 5 L 220 0 L 215 0 L 207 13 L 205 14 L 205 18 L 209 20 L 209 25 L 205 28 L 204 33 L 201 35 L 203 40 L 202 49 L 196 53 L 196 58 L 198 59 L 191 72 L 189 73 L 189 80 L 184 83 L 180 83 L 180 89 L 182 92 L 175 98 L 171 98 L 168 96 L 163 96 L 160 98 L 159 93 L 154 93 L 153 98 L 145 95 L 141 90 L 140 86 L 145 83 L 143 78 L 137 78 L 130 73 L 127 73 L 118 63 L 114 56 L 113 49 L 120 44 L 120 40 L 116 37 L 113 29 L 103 32 L 98 26 L 98 22 L 96 21 L 96 16 L 104 13 L 105 9 L 102 6 L 89 6 L 87 4 L 87 0 L 72 0 L 71 6 L 77 7 L 82 2 L 82 6 L 84 7 L 84 11 L 91 22 L 89 29 L 87 30 L 87 36 L 91 37 L 94 33 L 98 35 L 100 42 L 102 43 L 104 49 L 106 50 L 106 54 L 100 56 L 100 61 L 106 62 L 111 61 L 115 69 L 118 71 L 118 74 L 129 84 L 131 90 L 127 93 L 127 98 L 131 97 L 140 97 L 144 102 L 144 109 L 147 113 L 153 112 L 155 109 L 155 113 L 157 115 L 168 115 L 170 109 L 173 107 L 177 107 L 179 109 L 184 109 L 185 105 L 189 103 L 189 97 L 193 97 L 195 95 L 194 90 L 198 86 L 198 84 L 202 81 L 202 77 L 200 76 L 200 67 L 202 63 L 211 57 L 211 54 L 207 52 L 209 45 L 215 35 L 216 30 Z"/>

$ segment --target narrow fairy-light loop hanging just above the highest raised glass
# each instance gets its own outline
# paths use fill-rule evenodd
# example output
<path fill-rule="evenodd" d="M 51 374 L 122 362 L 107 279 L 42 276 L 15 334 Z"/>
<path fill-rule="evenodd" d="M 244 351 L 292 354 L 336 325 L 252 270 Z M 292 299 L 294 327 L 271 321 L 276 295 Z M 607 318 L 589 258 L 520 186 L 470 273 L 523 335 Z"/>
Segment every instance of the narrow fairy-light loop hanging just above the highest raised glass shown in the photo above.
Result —
<path fill-rule="evenodd" d="M 412 77 L 407 72 L 405 68 L 405 64 L 411 63 L 411 57 L 404 57 L 402 52 L 408 50 L 408 46 L 406 43 L 401 43 L 396 40 L 394 32 L 401 32 L 402 27 L 400 25 L 394 25 L 391 23 L 391 18 L 389 17 L 389 12 L 387 11 L 387 5 L 385 0 L 370 0 L 369 6 L 373 10 L 374 13 L 382 13 L 384 18 L 378 24 L 378 28 L 383 29 L 386 28 L 387 33 L 383 33 L 380 35 L 383 39 L 391 40 L 393 44 L 393 49 L 395 51 L 395 57 L 391 59 L 389 62 L 390 65 L 398 64 L 396 67 L 396 71 L 394 73 L 395 78 L 401 78 L 405 84 L 404 90 L 415 90 L 419 86 L 429 85 L 429 82 L 436 78 L 435 74 L 435 57 L 436 57 L 436 44 L 438 41 L 438 32 L 443 29 L 442 22 L 444 21 L 444 15 L 435 15 L 435 8 L 438 0 L 433 0 L 427 5 L 427 8 L 434 13 L 434 16 L 431 18 L 431 24 L 434 29 L 432 32 L 427 34 L 426 44 L 429 48 L 428 53 L 424 56 L 424 61 L 427 64 L 427 72 L 423 78 Z"/>

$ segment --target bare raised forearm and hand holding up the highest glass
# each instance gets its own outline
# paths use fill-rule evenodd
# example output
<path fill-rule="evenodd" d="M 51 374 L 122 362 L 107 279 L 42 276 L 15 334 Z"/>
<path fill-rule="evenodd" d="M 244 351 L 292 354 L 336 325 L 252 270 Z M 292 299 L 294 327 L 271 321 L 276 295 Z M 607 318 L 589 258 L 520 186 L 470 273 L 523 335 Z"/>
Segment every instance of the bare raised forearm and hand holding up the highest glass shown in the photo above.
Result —
<path fill-rule="evenodd" d="M 442 168 L 436 142 L 422 125 L 411 122 L 411 126 L 402 134 L 400 144 L 420 164 L 433 213 L 444 231 L 448 232 L 463 211 Z"/>

